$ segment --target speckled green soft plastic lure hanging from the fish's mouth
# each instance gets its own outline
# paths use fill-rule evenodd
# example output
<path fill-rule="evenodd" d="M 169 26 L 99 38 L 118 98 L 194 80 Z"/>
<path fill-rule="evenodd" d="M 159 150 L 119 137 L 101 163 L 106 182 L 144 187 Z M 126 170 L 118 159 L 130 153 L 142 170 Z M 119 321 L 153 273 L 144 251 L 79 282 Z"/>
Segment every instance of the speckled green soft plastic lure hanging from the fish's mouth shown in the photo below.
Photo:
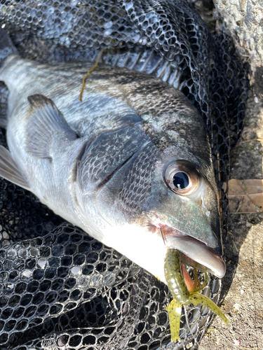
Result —
<path fill-rule="evenodd" d="M 229 320 L 222 313 L 219 307 L 205 295 L 199 293 L 200 290 L 205 288 L 208 281 L 208 275 L 205 273 L 205 281 L 200 286 L 196 269 L 194 269 L 194 286 L 188 290 L 184 283 L 184 277 L 181 270 L 181 258 L 180 252 L 175 249 L 168 249 L 166 253 L 166 259 L 164 263 L 164 272 L 166 281 L 170 292 L 173 295 L 173 300 L 167 307 L 168 316 L 170 320 L 170 332 L 172 342 L 180 340 L 180 318 L 182 305 L 202 304 L 204 307 L 208 307 L 217 316 L 220 316 L 225 323 L 229 323 Z"/>

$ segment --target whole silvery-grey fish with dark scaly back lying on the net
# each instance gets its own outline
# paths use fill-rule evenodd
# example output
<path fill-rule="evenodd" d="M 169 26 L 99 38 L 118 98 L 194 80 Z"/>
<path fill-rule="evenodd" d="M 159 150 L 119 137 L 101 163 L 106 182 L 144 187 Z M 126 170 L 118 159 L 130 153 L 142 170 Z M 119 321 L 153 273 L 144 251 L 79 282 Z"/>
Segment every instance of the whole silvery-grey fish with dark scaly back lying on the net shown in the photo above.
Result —
<path fill-rule="evenodd" d="M 222 278 L 225 264 L 205 121 L 159 78 L 90 62 L 39 64 L 0 29 L 8 149 L 0 176 L 167 283 L 167 249 Z"/>

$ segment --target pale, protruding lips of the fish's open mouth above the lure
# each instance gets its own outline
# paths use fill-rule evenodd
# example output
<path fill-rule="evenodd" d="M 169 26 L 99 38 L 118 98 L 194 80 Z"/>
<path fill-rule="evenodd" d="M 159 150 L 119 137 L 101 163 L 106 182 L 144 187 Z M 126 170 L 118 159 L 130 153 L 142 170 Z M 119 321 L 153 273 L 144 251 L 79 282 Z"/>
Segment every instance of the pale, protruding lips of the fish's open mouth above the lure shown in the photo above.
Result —
<path fill-rule="evenodd" d="M 203 272 L 210 272 L 220 279 L 224 276 L 226 265 L 222 256 L 202 241 L 166 225 L 160 227 L 160 232 L 166 248 L 176 249 L 182 253 L 183 263 Z"/>

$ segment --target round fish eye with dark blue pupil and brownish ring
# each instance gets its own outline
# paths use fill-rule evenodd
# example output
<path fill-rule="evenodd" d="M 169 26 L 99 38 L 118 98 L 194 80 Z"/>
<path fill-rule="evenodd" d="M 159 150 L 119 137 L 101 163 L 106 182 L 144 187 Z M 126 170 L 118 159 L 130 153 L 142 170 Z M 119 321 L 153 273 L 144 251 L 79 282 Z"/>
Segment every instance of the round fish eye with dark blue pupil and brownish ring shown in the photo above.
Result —
<path fill-rule="evenodd" d="M 185 160 L 168 165 L 164 178 L 170 190 L 183 196 L 194 193 L 200 182 L 196 167 Z"/>

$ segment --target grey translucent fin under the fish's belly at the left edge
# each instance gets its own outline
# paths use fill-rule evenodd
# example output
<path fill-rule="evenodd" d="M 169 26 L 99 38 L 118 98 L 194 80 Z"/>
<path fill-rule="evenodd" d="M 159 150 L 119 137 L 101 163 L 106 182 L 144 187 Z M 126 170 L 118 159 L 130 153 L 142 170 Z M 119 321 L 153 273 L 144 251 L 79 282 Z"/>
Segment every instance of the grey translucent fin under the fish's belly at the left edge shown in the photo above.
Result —
<path fill-rule="evenodd" d="M 0 146 L 0 176 L 15 183 L 15 185 L 30 190 L 29 183 L 24 176 L 22 176 L 11 153 L 3 146 Z"/>

